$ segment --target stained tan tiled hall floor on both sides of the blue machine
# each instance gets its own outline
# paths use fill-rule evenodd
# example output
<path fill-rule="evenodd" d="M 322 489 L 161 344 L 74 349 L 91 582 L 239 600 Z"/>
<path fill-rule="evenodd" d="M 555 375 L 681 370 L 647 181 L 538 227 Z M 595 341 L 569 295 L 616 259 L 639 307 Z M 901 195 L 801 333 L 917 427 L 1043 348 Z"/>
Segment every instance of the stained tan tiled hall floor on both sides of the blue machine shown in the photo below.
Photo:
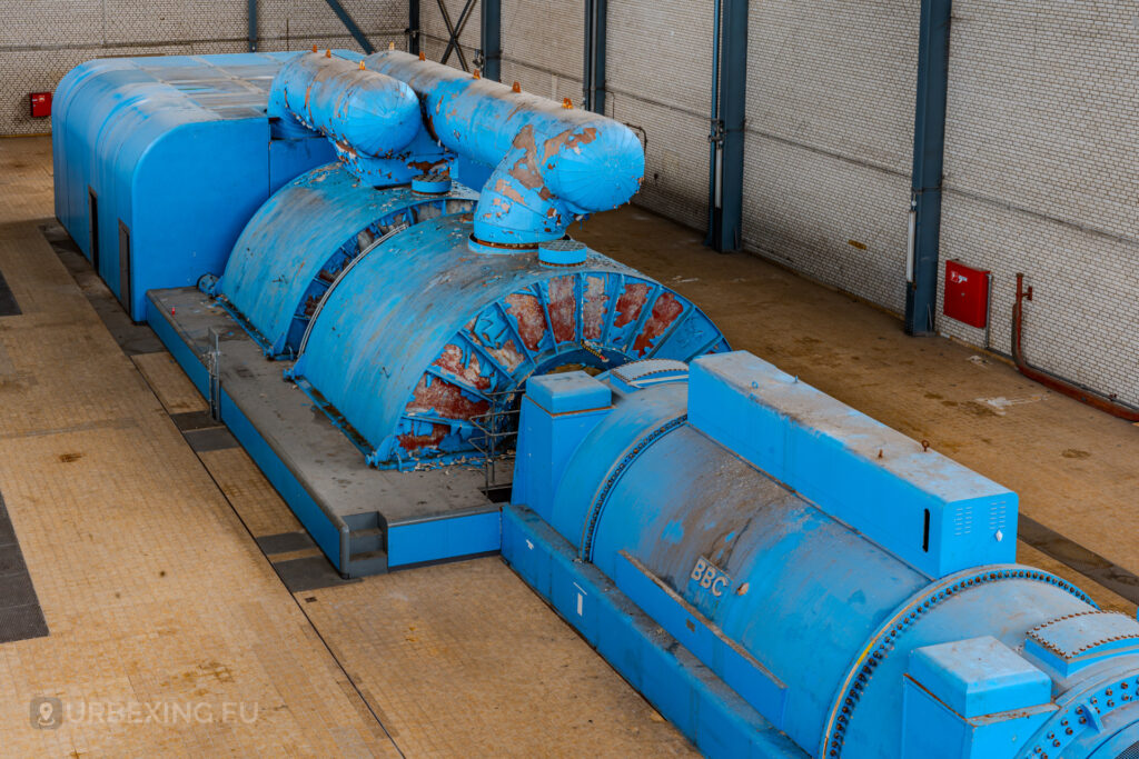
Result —
<path fill-rule="evenodd" d="M 322 581 L 52 216 L 50 141 L 0 140 L 0 754 L 694 752 L 497 558 Z M 1019 492 L 1021 560 L 1134 613 L 1139 429 L 647 213 L 579 237 L 735 347 Z"/>

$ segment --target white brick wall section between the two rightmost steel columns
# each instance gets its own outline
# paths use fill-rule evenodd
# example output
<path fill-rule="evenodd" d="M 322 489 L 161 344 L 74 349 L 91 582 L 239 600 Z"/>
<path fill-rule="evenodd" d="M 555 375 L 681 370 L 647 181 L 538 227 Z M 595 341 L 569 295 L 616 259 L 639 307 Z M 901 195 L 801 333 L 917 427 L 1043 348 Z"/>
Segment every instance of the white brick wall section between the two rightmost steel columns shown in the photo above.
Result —
<path fill-rule="evenodd" d="M 906 299 L 918 3 L 767 0 L 748 24 L 744 242 Z"/>

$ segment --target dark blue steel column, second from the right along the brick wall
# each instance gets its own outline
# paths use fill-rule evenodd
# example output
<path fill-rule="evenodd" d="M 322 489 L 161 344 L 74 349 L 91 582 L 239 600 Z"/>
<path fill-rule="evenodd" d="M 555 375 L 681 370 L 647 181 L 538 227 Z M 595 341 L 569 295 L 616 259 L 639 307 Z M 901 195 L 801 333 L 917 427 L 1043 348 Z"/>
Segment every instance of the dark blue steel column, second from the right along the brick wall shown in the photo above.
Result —
<path fill-rule="evenodd" d="M 713 24 L 708 236 L 720 253 L 738 250 L 744 215 L 747 105 L 747 0 L 716 0 Z"/>

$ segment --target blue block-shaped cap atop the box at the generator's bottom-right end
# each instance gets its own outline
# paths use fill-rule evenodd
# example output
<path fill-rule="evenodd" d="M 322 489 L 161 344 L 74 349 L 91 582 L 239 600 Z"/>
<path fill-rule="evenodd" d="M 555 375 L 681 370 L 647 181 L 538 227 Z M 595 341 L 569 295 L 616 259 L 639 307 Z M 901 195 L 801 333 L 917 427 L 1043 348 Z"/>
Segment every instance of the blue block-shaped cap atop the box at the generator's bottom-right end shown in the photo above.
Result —
<path fill-rule="evenodd" d="M 989 635 L 916 649 L 909 674 L 966 718 L 1038 707 L 1052 698 L 1047 675 Z"/>

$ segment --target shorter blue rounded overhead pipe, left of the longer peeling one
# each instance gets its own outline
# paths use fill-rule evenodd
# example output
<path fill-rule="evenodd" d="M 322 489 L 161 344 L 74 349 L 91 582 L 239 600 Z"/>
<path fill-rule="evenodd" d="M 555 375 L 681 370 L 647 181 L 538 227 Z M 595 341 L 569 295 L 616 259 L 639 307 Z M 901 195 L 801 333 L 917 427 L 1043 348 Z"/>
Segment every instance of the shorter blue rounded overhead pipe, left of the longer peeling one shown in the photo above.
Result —
<path fill-rule="evenodd" d="M 417 139 L 426 135 L 415 92 L 354 61 L 296 56 L 278 72 L 269 102 L 285 134 L 297 125 L 320 132 L 354 175 L 376 187 L 409 182 L 443 157 L 429 140 Z M 423 155 L 425 141 L 435 155 Z"/>

